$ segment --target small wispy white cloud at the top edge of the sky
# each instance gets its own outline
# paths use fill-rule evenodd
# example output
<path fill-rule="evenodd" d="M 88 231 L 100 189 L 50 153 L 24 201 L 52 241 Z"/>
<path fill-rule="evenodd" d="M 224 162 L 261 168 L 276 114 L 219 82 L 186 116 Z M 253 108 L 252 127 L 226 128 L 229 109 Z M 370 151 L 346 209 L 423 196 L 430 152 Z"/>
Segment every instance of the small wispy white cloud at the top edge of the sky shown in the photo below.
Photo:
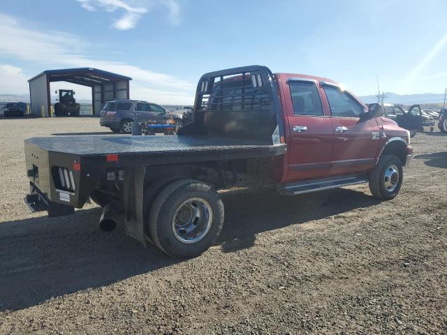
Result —
<path fill-rule="evenodd" d="M 177 0 L 78 0 L 90 12 L 105 10 L 108 13 L 124 13 L 115 20 L 112 27 L 118 30 L 129 30 L 136 27 L 141 17 L 154 6 L 161 5 L 168 9 L 168 17 L 172 24 L 181 22 L 180 6 Z"/>

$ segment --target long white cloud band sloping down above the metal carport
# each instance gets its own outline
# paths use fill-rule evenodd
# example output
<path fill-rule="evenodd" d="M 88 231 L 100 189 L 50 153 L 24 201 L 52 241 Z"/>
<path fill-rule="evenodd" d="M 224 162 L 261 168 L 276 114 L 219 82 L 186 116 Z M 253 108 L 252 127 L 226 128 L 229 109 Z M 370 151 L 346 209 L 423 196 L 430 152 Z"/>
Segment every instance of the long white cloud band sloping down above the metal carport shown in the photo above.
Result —
<path fill-rule="evenodd" d="M 152 90 L 173 89 L 173 103 L 177 103 L 176 96 L 182 100 L 184 94 L 191 97 L 190 101 L 193 99 L 195 87 L 186 80 L 123 62 L 92 59 L 84 54 L 85 50 L 89 50 L 88 43 L 78 36 L 61 31 L 41 32 L 33 27 L 27 28 L 30 24 L 32 22 L 22 24 L 14 17 L 0 13 L 0 31 L 2 32 L 0 56 L 38 62 L 50 68 L 100 68 L 132 77 L 132 87 L 135 85 Z M 179 91 L 182 93 L 178 93 Z M 163 96 L 167 95 L 163 93 Z"/>

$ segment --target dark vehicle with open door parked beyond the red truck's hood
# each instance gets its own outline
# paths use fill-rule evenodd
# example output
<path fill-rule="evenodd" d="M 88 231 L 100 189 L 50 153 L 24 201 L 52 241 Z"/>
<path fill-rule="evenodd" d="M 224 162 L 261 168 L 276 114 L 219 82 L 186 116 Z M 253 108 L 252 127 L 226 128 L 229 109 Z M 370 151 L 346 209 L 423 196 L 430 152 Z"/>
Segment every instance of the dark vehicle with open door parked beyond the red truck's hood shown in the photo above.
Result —
<path fill-rule="evenodd" d="M 396 121 L 400 127 L 408 130 L 411 137 L 418 132 L 423 132 L 425 126 L 430 127 L 430 131 L 434 129 L 434 119 L 425 114 L 420 105 L 412 105 L 406 111 L 399 105 L 384 103 L 383 110 L 385 117 Z"/>

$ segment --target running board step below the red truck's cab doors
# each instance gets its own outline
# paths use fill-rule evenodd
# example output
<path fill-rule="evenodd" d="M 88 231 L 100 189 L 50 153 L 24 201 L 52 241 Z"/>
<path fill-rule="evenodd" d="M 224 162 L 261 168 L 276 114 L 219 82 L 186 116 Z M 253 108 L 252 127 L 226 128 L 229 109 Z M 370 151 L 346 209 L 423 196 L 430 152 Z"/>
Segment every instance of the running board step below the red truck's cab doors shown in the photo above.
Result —
<path fill-rule="evenodd" d="M 345 176 L 337 178 L 326 178 L 316 180 L 299 181 L 293 184 L 285 184 L 280 188 L 281 193 L 286 195 L 296 195 L 302 193 L 309 193 L 315 191 L 329 190 L 330 188 L 337 188 L 349 185 L 363 184 L 368 179 L 365 176 Z"/>

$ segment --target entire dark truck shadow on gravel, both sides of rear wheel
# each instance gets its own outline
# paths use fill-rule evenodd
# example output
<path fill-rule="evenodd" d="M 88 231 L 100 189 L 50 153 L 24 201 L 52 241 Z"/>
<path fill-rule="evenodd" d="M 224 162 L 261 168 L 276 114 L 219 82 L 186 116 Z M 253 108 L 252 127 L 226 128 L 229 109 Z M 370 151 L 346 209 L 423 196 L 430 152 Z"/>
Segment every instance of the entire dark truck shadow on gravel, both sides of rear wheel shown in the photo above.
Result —
<path fill-rule="evenodd" d="M 249 248 L 260 232 L 379 203 L 350 189 L 296 197 L 235 193 L 223 201 L 226 223 L 217 244 L 226 253 Z M 0 223 L 0 311 L 36 306 L 180 262 L 153 246 L 147 250 L 122 229 L 101 232 L 100 215 L 101 209 L 94 208 L 61 218 Z"/>

